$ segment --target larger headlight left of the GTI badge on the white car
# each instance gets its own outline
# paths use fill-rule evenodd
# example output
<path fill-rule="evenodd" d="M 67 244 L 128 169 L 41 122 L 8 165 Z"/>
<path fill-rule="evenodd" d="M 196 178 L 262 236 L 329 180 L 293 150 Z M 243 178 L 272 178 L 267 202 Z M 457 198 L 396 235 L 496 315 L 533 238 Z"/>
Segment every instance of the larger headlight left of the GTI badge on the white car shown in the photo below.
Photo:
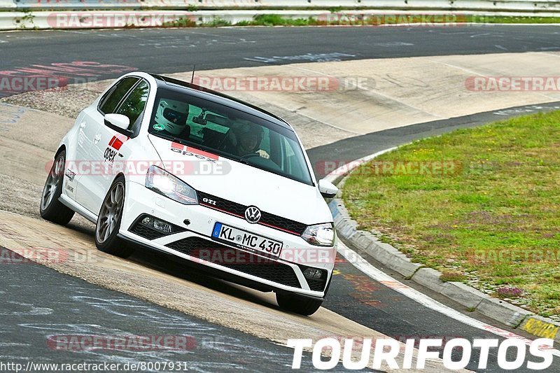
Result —
<path fill-rule="evenodd" d="M 198 204 L 197 191 L 181 179 L 157 166 L 146 174 L 146 188 L 181 204 Z"/>

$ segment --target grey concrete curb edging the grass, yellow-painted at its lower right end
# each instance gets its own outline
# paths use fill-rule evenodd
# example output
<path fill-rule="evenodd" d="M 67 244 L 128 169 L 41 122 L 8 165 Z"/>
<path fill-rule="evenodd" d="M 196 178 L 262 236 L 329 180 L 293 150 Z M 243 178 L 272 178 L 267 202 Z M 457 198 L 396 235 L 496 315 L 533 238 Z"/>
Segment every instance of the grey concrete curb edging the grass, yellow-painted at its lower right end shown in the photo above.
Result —
<path fill-rule="evenodd" d="M 342 191 L 344 181 L 353 168 L 394 149 L 395 148 L 383 150 L 361 158 L 356 162 L 352 162 L 352 167 L 346 166 L 348 169 L 346 169 L 345 172 L 335 170 L 326 176 L 326 178 L 331 183 L 337 184 Z M 358 253 L 371 255 L 372 258 L 381 262 L 381 264 L 385 265 L 388 269 L 405 276 L 405 279 L 410 279 L 419 283 L 447 297 L 449 300 L 461 304 L 465 309 L 468 309 L 468 311 L 479 311 L 484 316 L 510 326 L 511 328 L 519 328 L 535 337 L 554 339 L 554 342 L 560 343 L 560 323 L 552 321 L 549 318 L 538 316 L 531 311 L 514 306 L 504 300 L 490 297 L 464 283 L 444 282 L 440 280 L 441 272 L 426 267 L 425 265 L 412 262 L 410 258 L 407 258 L 407 256 L 398 251 L 397 248 L 379 241 L 371 232 L 358 230 L 358 223 L 356 220 L 351 219 L 348 210 L 344 206 L 344 202 L 338 197 L 339 196 L 332 199 L 328 204 L 332 217 L 335 220 L 337 235 L 355 246 Z"/>

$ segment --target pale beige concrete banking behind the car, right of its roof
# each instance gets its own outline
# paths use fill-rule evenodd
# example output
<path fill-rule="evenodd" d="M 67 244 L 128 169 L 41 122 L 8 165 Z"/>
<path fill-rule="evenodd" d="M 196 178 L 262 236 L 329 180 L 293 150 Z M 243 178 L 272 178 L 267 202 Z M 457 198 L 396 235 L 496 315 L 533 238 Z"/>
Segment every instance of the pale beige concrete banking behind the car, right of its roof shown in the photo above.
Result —
<path fill-rule="evenodd" d="M 500 108 L 559 101 L 559 90 L 484 92 L 482 89 L 486 87 L 483 85 L 471 87 L 479 91 L 465 87 L 474 83 L 471 81 L 475 77 L 482 76 L 556 76 L 559 63 L 560 52 L 529 52 L 365 59 L 200 71 L 199 74 L 210 77 L 209 83 L 215 83 L 218 87 L 220 80 L 215 82 L 211 77 L 302 76 L 338 80 L 337 88 L 334 90 L 319 89 L 310 92 L 253 90 L 228 93 L 265 107 L 272 104 L 271 110 L 274 106 L 278 106 L 281 111 L 296 113 L 304 120 L 311 118 L 322 123 L 325 131 L 334 134 L 338 134 L 340 130 L 347 131 L 349 134 L 366 134 Z M 190 79 L 190 73 L 171 74 L 171 76 Z M 306 139 L 304 129 L 301 131 L 297 128 L 298 120 L 293 121 L 293 125 Z M 315 132 L 312 133 L 316 136 Z M 318 145 L 318 143 L 309 143 L 309 147 Z"/>

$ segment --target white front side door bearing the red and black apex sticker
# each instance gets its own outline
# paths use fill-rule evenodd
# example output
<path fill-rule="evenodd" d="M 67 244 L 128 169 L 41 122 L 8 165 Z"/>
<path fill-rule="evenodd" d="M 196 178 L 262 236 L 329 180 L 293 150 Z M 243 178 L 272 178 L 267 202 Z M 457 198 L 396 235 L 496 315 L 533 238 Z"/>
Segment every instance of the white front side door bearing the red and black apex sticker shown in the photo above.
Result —
<path fill-rule="evenodd" d="M 101 204 L 106 195 L 107 190 L 113 183 L 118 170 L 125 169 L 123 162 L 130 157 L 130 146 L 128 141 L 129 135 L 135 132 L 137 127 L 141 125 L 146 101 L 148 101 L 149 85 L 146 80 L 139 82 L 132 87 L 127 96 L 120 101 L 113 113 L 125 115 L 130 120 L 127 131 L 118 132 L 116 129 L 108 127 L 103 121 L 99 126 L 99 132 L 96 135 L 99 141 L 93 143 L 91 150 L 92 160 L 102 164 L 103 170 L 111 170 L 111 172 L 102 172 L 99 177 L 94 179 L 92 186 L 92 204 L 96 213 L 101 208 Z"/>

